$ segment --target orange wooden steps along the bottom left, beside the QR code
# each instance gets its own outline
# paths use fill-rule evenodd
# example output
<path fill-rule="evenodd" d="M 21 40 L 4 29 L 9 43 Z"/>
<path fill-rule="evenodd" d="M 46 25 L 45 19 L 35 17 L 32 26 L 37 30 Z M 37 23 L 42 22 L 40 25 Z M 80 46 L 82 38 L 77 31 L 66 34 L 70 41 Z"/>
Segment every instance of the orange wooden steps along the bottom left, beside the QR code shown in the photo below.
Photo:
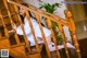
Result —
<path fill-rule="evenodd" d="M 35 47 L 34 47 L 35 48 Z M 0 40 L 0 49 L 9 49 L 10 56 L 13 58 L 40 58 L 38 51 L 26 53 L 24 44 L 10 47 L 9 39 Z"/>

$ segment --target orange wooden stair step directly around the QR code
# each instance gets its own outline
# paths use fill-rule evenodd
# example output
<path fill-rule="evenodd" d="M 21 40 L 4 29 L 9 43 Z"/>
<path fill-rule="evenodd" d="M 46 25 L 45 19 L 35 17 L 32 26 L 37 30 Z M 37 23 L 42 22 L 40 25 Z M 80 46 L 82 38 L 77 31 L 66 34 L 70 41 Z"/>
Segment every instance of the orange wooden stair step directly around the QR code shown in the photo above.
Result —
<path fill-rule="evenodd" d="M 25 58 L 26 57 L 24 46 L 11 48 L 10 46 L 5 44 L 0 44 L 0 49 L 9 49 L 10 56 L 14 58 Z"/>

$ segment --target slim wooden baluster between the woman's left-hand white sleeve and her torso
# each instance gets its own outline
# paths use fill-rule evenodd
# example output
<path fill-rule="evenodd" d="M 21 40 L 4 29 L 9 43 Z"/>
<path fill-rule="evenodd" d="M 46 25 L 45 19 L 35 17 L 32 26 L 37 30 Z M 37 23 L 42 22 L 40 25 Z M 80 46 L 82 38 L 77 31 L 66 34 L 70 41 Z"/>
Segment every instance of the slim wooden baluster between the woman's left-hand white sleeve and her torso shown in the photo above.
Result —
<path fill-rule="evenodd" d="M 25 33 L 25 31 L 24 31 L 24 25 L 23 25 L 23 23 L 22 23 L 21 16 L 20 16 L 20 14 L 18 14 L 17 7 L 14 5 L 14 8 L 15 8 L 15 11 L 16 11 L 16 13 L 17 13 L 18 21 L 20 21 L 20 24 L 21 24 L 21 27 L 22 27 L 22 31 L 23 31 L 23 34 L 24 34 L 24 39 L 25 39 L 26 47 L 27 47 L 28 51 L 30 53 L 30 44 L 28 43 L 26 33 Z M 27 30 L 28 30 L 28 28 L 27 28 Z"/>

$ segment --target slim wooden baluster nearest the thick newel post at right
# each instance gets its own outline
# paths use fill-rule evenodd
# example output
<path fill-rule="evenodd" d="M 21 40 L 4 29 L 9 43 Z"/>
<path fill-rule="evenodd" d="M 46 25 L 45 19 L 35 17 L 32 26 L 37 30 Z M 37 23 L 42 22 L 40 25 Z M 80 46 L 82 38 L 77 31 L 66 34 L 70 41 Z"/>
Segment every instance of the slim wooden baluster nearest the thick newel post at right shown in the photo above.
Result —
<path fill-rule="evenodd" d="M 61 25 L 61 23 L 59 23 L 59 31 L 61 32 L 61 35 L 62 35 L 63 45 L 64 45 L 64 48 L 65 48 L 66 56 L 67 56 L 67 58 L 70 58 L 69 50 L 67 50 L 67 47 L 66 47 L 66 39 L 65 39 L 65 35 L 64 35 L 64 32 L 63 32 L 63 26 Z"/>

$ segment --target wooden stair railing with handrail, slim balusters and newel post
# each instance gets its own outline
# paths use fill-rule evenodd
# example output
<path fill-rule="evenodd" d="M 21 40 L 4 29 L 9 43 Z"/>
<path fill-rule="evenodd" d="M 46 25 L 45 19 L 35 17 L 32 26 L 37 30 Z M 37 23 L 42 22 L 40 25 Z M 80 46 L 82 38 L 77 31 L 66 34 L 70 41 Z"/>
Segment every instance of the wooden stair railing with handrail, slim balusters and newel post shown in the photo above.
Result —
<path fill-rule="evenodd" d="M 22 21 L 21 21 L 21 16 L 18 14 L 17 7 L 23 7 L 26 10 L 26 16 L 27 16 L 27 19 L 30 19 L 30 15 L 28 14 L 28 11 L 33 12 L 36 15 L 36 19 L 37 19 L 37 22 L 39 24 L 39 28 L 41 31 L 41 35 L 42 35 L 42 38 L 44 38 L 44 43 L 45 43 L 45 46 L 46 46 L 48 58 L 51 58 L 51 55 L 50 55 L 50 50 L 48 48 L 48 44 L 47 44 L 46 36 L 45 36 L 45 33 L 44 33 L 44 28 L 42 28 L 42 25 L 41 25 L 40 16 L 44 16 L 45 19 L 47 19 L 48 27 L 51 31 L 52 38 L 53 38 L 53 42 L 54 42 L 54 46 L 55 46 L 55 49 L 57 49 L 57 56 L 58 56 L 58 58 L 61 58 L 61 55 L 59 53 L 59 47 L 57 45 L 55 34 L 54 34 L 54 32 L 52 30 L 51 21 L 57 22 L 58 25 L 59 25 L 59 32 L 61 33 L 61 36 L 62 36 L 62 39 L 63 39 L 63 45 L 64 45 L 64 48 L 65 48 L 65 54 L 66 54 L 67 58 L 70 58 L 70 54 L 69 54 L 67 46 L 66 46 L 66 39 L 65 39 L 65 34 L 64 34 L 63 26 L 67 26 L 69 27 L 69 30 L 71 32 L 71 35 L 72 35 L 72 40 L 73 40 L 74 46 L 76 48 L 77 56 L 80 57 L 80 50 L 79 50 L 79 45 L 78 45 L 78 42 L 77 42 L 76 28 L 75 28 L 75 24 L 74 24 L 74 21 L 73 21 L 72 13 L 70 11 L 64 11 L 65 19 L 62 19 L 62 18 L 60 18 L 58 15 L 50 14 L 48 12 L 45 12 L 45 11 L 40 10 L 40 9 L 37 9 L 37 8 L 35 8 L 35 7 L 30 5 L 30 4 L 28 4 L 29 8 L 27 8 L 25 5 L 22 5 L 20 3 L 11 1 L 11 0 L 8 0 L 8 2 L 5 2 L 5 0 L 3 0 L 3 2 L 4 2 L 4 5 L 7 8 L 10 21 L 11 21 L 11 26 L 13 25 L 13 21 L 12 21 L 12 16 L 11 16 L 10 10 L 8 8 L 8 2 L 14 5 L 20 24 L 22 24 Z M 5 36 L 9 36 L 8 30 L 7 30 L 5 25 L 4 25 L 4 21 L 3 21 L 3 16 L 1 14 L 1 12 L 0 12 L 0 19 L 2 20 L 2 24 L 3 24 L 3 27 L 4 27 Z M 38 45 L 36 36 L 35 36 L 35 31 L 33 28 L 33 23 L 30 22 L 30 20 L 28 20 L 28 23 L 29 23 L 32 33 L 34 35 L 36 48 L 37 48 L 38 53 L 40 53 L 39 51 L 39 45 Z M 32 51 L 29 43 L 28 43 L 28 39 L 27 39 L 27 36 L 26 36 L 26 33 L 24 31 L 24 25 L 22 24 L 21 27 L 23 30 L 26 47 L 27 47 L 28 51 Z M 17 36 L 16 32 L 15 32 L 15 39 L 16 39 L 16 43 L 17 43 L 16 45 L 20 45 L 21 43 L 20 43 L 20 39 L 18 39 L 18 36 Z"/>

